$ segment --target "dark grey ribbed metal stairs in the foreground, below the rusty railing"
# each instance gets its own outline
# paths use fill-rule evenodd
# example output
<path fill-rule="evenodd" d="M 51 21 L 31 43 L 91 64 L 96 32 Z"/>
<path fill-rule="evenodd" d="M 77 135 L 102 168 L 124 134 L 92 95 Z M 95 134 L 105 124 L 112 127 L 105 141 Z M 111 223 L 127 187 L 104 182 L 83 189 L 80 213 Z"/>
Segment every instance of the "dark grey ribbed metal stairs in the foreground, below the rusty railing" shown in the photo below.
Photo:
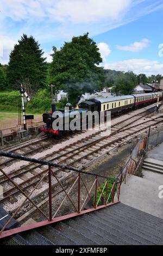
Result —
<path fill-rule="evenodd" d="M 122 203 L 1 239 L 1 245 L 161 245 L 161 218 Z"/>

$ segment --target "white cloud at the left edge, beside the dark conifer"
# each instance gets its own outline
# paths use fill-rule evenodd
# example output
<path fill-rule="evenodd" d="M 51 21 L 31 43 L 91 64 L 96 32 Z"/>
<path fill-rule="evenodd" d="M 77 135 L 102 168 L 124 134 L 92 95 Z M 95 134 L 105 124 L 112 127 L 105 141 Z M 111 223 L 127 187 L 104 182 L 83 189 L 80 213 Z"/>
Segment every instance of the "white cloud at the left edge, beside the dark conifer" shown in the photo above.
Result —
<path fill-rule="evenodd" d="M 0 35 L 0 63 L 7 64 L 9 61 L 9 54 L 11 50 L 14 48 L 14 45 L 17 43 L 16 40 L 9 38 L 5 35 Z"/>

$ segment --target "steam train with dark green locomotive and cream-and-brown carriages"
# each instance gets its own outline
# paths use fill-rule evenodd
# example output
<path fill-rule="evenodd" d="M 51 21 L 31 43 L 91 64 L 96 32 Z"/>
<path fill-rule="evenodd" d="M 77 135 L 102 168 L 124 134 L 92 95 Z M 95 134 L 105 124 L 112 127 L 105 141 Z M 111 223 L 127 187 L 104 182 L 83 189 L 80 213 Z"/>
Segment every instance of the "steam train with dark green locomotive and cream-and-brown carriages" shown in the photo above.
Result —
<path fill-rule="evenodd" d="M 123 95 L 123 96 L 112 96 L 112 97 L 97 97 L 80 103 L 77 108 L 72 108 L 70 103 L 66 104 L 65 109 L 58 109 L 62 113 L 62 129 L 53 129 L 53 121 L 58 118 L 52 116 L 55 112 L 55 104 L 52 104 L 52 111 L 50 113 L 43 113 L 43 122 L 46 124 L 46 127 L 42 127 L 41 131 L 47 133 L 49 137 L 57 136 L 60 137 L 70 130 L 66 129 L 67 120 L 70 123 L 74 118 L 74 114 L 78 111 L 80 124 L 82 126 L 83 122 L 83 113 L 87 111 L 97 111 L 98 113 L 104 112 L 106 115 L 107 111 L 110 111 L 112 115 L 121 114 L 124 111 L 129 111 L 131 109 L 152 104 L 162 99 L 162 92 L 156 93 L 146 93 L 146 94 L 133 94 L 133 95 Z M 67 118 L 68 117 L 68 118 Z M 68 126 L 69 127 L 69 126 Z M 76 130 L 80 130 L 77 127 Z"/>

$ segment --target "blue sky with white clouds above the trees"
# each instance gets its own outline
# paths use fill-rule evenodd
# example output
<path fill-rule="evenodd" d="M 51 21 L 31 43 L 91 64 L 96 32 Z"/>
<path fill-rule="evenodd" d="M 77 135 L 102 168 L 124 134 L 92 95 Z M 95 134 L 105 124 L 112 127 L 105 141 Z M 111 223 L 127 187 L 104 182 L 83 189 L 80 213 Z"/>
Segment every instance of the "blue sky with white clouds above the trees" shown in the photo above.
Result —
<path fill-rule="evenodd" d="M 96 41 L 105 69 L 163 75 L 163 0 L 0 0 L 0 63 L 22 34 L 52 47 L 72 36 Z"/>

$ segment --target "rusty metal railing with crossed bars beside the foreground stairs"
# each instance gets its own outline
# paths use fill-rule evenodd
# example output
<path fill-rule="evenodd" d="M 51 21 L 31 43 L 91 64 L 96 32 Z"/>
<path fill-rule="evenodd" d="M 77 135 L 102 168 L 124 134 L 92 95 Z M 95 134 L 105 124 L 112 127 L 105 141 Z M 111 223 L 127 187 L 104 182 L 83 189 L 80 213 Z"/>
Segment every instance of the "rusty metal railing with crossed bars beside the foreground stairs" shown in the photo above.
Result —
<path fill-rule="evenodd" d="M 115 193 L 117 193 L 118 195 L 120 194 L 120 191 L 118 191 L 118 188 L 120 189 L 120 186 L 117 186 L 120 181 L 116 178 L 108 178 L 103 175 L 86 172 L 85 170 L 79 170 L 79 169 L 73 168 L 73 167 L 61 166 L 60 164 L 57 164 L 57 163 L 32 159 L 29 157 L 21 156 L 19 154 L 5 153 L 2 150 L 0 150 L 0 155 L 6 156 L 6 157 L 11 157 L 12 159 L 24 160 L 24 161 L 33 162 L 33 163 L 40 163 L 45 166 L 48 166 L 48 169 L 46 170 L 46 172 L 43 173 L 42 177 L 40 177 L 40 180 L 37 182 L 37 184 L 32 189 L 32 191 L 30 191 L 28 194 L 26 191 L 24 191 L 21 188 L 20 185 L 17 185 L 16 182 L 14 182 L 14 180 L 12 179 L 10 174 L 7 174 L 4 172 L 3 169 L 0 169 L 2 174 L 5 176 L 5 178 L 12 185 L 14 185 L 16 187 L 16 189 L 25 197 L 24 201 L 17 207 L 14 214 L 9 219 L 6 220 L 5 224 L 3 225 L 3 228 L 0 231 L 0 238 L 6 237 L 6 236 L 9 236 L 12 234 L 16 234 L 16 233 L 19 233 L 24 230 L 41 227 L 43 225 L 51 224 L 51 223 L 58 222 L 61 220 L 66 220 L 67 218 L 71 218 L 74 216 L 79 216 L 79 215 L 85 214 L 87 212 L 95 211 L 97 209 L 101 209 L 101 208 L 104 208 L 106 206 L 109 206 L 111 204 L 118 202 L 118 200 L 116 202 L 114 200 Z M 73 182 L 72 186 L 70 188 L 68 188 L 68 190 L 61 183 L 61 181 L 57 177 L 56 173 L 53 171 L 52 167 L 57 167 L 60 169 L 68 169 L 68 170 L 71 170 L 73 172 L 73 174 L 77 174 L 77 175 L 74 175 L 74 178 L 76 180 Z M 91 176 L 91 178 L 92 178 L 91 185 L 89 184 L 89 186 L 88 186 L 87 182 L 84 180 L 84 175 Z M 45 178 L 48 179 L 48 215 L 45 214 L 45 212 L 40 207 L 38 207 L 36 205 L 36 203 L 34 202 L 34 200 L 32 198 L 33 192 L 36 190 L 36 188 L 40 185 L 40 183 Z M 55 181 L 58 182 L 58 185 L 61 187 L 62 192 L 65 193 L 65 197 L 62 199 L 62 202 L 60 203 L 60 205 L 54 212 L 53 212 L 53 205 L 55 205 L 56 202 L 53 203 L 53 200 L 52 200 L 52 178 L 54 178 Z M 101 186 L 102 180 L 105 181 L 105 184 L 103 187 Z M 109 182 L 110 180 L 112 182 Z M 77 193 L 74 193 L 75 186 L 77 187 Z M 110 191 L 109 194 L 108 194 L 108 186 L 111 186 L 110 190 L 109 190 Z M 85 194 L 82 192 L 82 190 L 85 190 Z M 97 198 L 97 190 L 98 190 L 98 198 Z M 100 192 L 100 196 L 99 196 L 99 192 Z M 76 195 L 75 198 L 74 198 L 74 195 Z M 85 198 L 83 198 L 83 195 L 85 196 Z M 98 206 L 99 200 L 101 198 L 103 199 L 102 200 L 103 204 Z M 64 204 L 66 199 L 68 199 L 70 201 L 70 203 L 73 207 L 73 212 L 71 212 L 70 214 L 64 215 L 64 216 L 57 217 L 59 214 L 59 211 L 61 209 L 61 206 Z M 90 199 L 90 201 L 91 201 L 91 206 L 89 209 L 85 210 L 84 206 L 86 205 L 88 199 Z M 36 222 L 34 224 L 30 224 L 28 226 L 26 225 L 26 226 L 14 228 L 11 230 L 5 230 L 8 227 L 11 220 L 16 216 L 18 211 L 21 210 L 21 208 L 23 207 L 23 205 L 26 203 L 27 200 L 29 201 L 29 203 L 31 203 L 36 208 L 36 210 L 39 211 L 39 213 L 42 215 L 42 217 L 45 220 L 41 221 L 41 222 Z M 70 207 L 68 207 L 68 208 L 70 208 Z"/>

